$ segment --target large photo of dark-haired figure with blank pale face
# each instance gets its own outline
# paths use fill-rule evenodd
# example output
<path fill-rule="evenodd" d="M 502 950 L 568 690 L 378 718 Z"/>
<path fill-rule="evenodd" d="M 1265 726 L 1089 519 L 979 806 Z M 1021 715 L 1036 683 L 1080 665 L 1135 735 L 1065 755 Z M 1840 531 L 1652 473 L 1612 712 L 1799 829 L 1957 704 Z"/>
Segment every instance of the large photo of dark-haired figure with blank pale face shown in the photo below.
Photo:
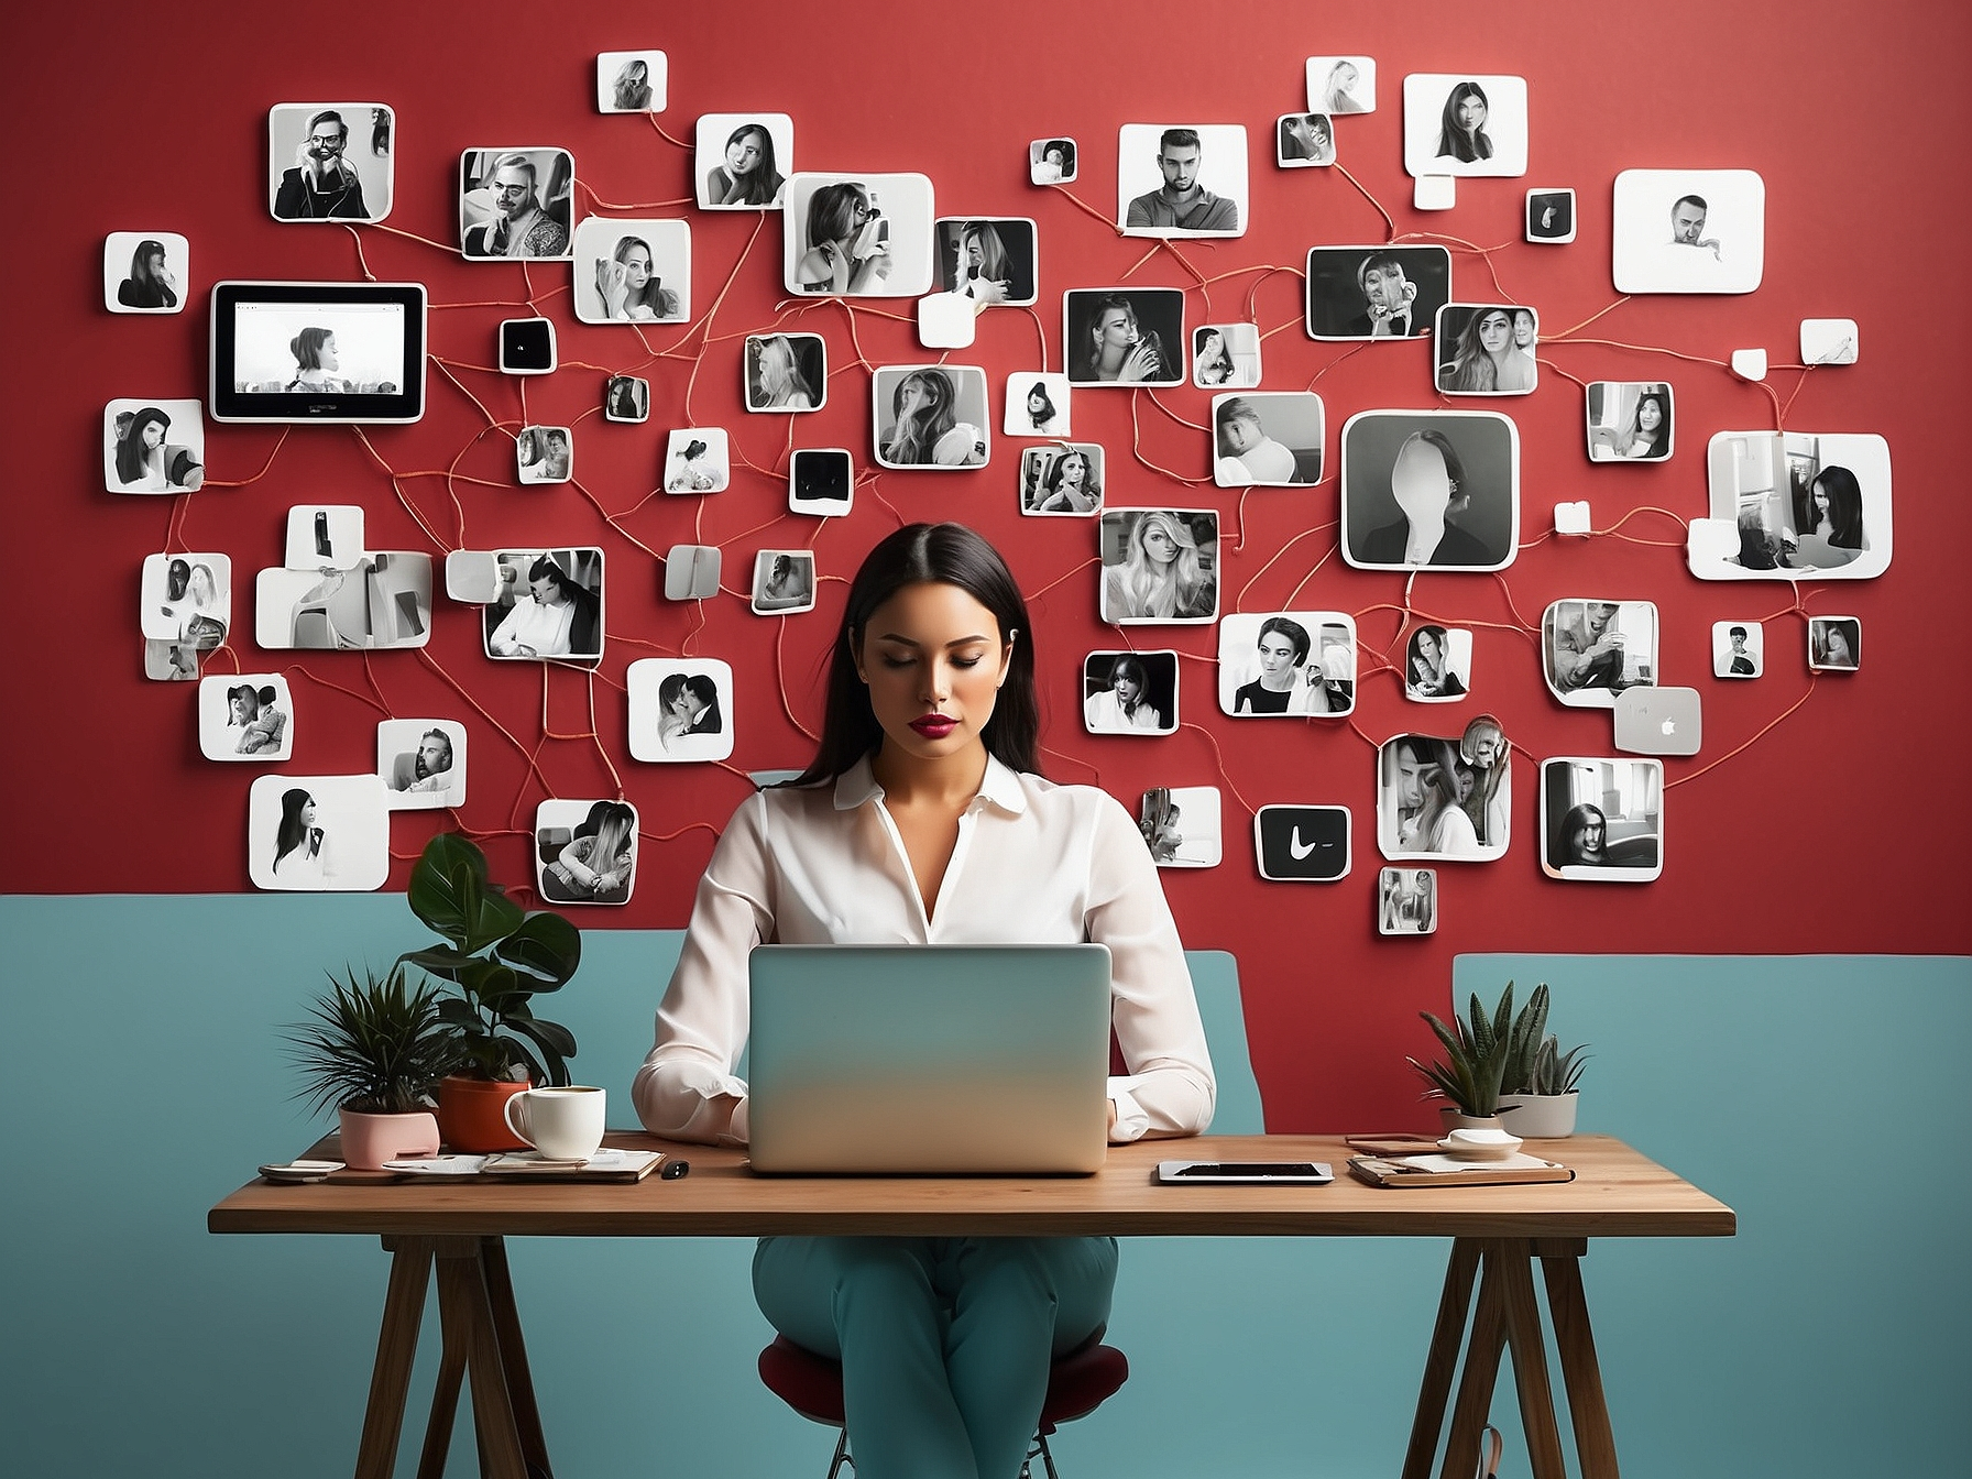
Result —
<path fill-rule="evenodd" d="M 1520 434 L 1493 410 L 1361 410 L 1343 424 L 1343 558 L 1359 570 L 1503 570 L 1520 528 Z"/>

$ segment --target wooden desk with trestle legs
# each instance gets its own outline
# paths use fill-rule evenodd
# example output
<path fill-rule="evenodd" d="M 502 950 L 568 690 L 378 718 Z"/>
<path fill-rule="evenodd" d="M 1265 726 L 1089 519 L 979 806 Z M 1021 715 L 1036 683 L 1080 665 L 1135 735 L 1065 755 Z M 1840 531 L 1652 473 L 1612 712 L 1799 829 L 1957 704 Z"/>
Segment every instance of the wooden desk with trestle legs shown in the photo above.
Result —
<path fill-rule="evenodd" d="M 635 1134 L 609 1144 L 663 1146 Z M 765 1236 L 1402 1236 L 1453 1238 L 1432 1331 L 1404 1479 L 1428 1479 L 1451 1404 L 1442 1479 L 1471 1475 L 1503 1351 L 1513 1353 L 1534 1479 L 1564 1479 L 1534 1262 L 1548 1288 L 1582 1479 L 1617 1479 L 1580 1260 L 1591 1236 L 1729 1236 L 1733 1213 L 1662 1165 L 1605 1136 L 1554 1142 L 1576 1169 L 1554 1185 L 1386 1191 L 1343 1169 L 1325 1136 L 1207 1136 L 1112 1146 L 1092 1177 L 755 1177 L 743 1152 L 678 1146 L 682 1181 L 515 1185 L 327 1181 L 241 1187 L 207 1215 L 213 1232 L 375 1232 L 392 1254 L 357 1479 L 388 1479 L 404 1422 L 432 1264 L 444 1353 L 420 1479 L 444 1471 L 463 1378 L 471 1378 L 481 1469 L 495 1479 L 548 1475 L 527 1347 L 503 1238 Z M 333 1142 L 312 1154 L 333 1158 Z M 1162 1187 L 1160 1160 L 1325 1160 L 1329 1187 Z M 1477 1311 L 1473 1290 L 1477 1284 Z M 1467 1335 L 1467 1315 L 1469 1335 Z M 1461 1361 L 1463 1345 L 1463 1361 Z M 1457 1398 L 1451 1388 L 1457 1382 Z"/>

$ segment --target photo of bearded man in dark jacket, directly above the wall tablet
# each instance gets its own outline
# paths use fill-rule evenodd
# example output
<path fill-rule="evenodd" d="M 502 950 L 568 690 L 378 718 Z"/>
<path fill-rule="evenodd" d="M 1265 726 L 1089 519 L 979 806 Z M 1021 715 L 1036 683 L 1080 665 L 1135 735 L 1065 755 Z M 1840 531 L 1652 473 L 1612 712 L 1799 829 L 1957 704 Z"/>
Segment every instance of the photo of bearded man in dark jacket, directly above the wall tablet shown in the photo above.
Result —
<path fill-rule="evenodd" d="M 385 103 L 276 103 L 266 112 L 276 221 L 390 215 L 396 114 Z"/>

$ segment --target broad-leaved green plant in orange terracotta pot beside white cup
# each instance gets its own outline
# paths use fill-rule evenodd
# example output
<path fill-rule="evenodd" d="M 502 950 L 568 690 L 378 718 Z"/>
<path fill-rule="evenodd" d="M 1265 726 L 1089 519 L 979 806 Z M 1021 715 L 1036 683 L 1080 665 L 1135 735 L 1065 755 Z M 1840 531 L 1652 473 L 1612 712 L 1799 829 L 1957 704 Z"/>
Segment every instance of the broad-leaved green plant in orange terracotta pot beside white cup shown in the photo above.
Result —
<path fill-rule="evenodd" d="M 523 911 L 487 876 L 485 854 L 458 832 L 424 846 L 406 897 L 446 943 L 408 951 L 400 964 L 458 990 L 438 998 L 458 1065 L 438 1085 L 438 1128 L 454 1150 L 519 1150 L 507 1098 L 536 1083 L 568 1085 L 576 1055 L 574 1033 L 536 1018 L 532 998 L 576 974 L 582 935 L 552 909 Z"/>

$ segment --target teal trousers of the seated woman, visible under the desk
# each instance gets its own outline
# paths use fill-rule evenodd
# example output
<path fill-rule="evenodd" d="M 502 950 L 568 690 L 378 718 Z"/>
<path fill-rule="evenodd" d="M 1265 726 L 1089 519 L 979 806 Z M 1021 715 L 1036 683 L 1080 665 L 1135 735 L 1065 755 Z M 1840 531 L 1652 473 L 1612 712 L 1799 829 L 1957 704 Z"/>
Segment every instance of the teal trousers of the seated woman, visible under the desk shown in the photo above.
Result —
<path fill-rule="evenodd" d="M 842 1363 L 858 1479 L 1016 1479 L 1047 1365 L 1108 1321 L 1116 1238 L 761 1238 L 753 1296 Z"/>

